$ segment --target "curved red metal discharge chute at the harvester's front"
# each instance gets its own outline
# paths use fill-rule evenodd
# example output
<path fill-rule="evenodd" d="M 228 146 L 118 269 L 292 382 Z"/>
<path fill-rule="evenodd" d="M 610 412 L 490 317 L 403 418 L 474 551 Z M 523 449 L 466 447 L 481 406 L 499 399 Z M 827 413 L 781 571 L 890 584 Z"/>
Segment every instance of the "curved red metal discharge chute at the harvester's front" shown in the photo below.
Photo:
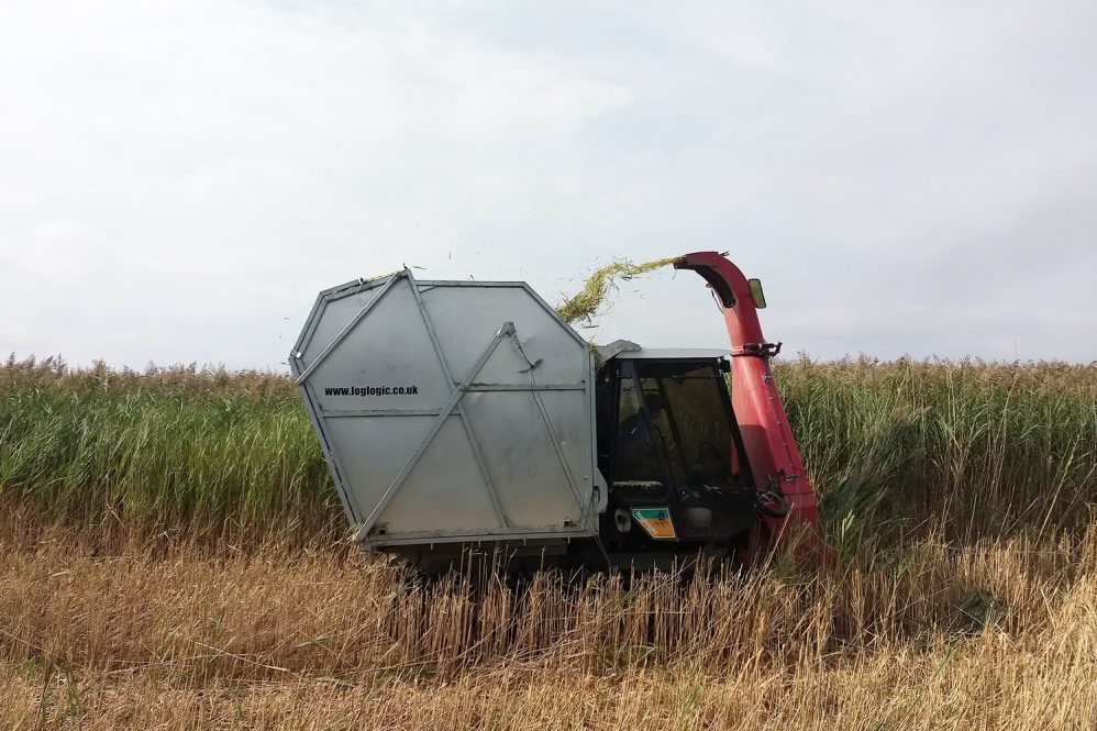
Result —
<path fill-rule="evenodd" d="M 717 252 L 686 254 L 674 264 L 708 281 L 723 312 L 731 339 L 731 400 L 743 446 L 760 490 L 780 494 L 788 501 L 784 518 L 763 517 L 751 536 L 747 558 L 776 543 L 797 541 L 797 553 L 827 560 L 829 549 L 819 532 L 815 489 L 804 468 L 796 439 L 769 368 L 780 350 L 762 334 L 751 284 L 734 264 Z"/>

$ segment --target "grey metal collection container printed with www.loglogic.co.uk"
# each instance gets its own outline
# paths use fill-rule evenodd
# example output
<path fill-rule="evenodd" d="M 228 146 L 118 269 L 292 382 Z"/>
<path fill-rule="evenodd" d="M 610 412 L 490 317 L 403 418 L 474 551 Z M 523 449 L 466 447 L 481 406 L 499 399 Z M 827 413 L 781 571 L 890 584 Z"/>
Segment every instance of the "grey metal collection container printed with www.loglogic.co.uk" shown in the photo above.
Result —
<path fill-rule="evenodd" d="M 334 287 L 289 363 L 365 547 L 597 534 L 594 356 L 524 283 Z"/>

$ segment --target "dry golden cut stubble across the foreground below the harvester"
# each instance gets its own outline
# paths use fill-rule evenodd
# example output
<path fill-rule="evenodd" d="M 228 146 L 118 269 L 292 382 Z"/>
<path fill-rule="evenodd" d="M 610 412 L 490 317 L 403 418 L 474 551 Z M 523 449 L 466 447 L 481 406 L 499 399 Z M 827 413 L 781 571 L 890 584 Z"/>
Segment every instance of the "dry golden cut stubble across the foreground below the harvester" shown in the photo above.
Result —
<path fill-rule="evenodd" d="M 1092 729 L 1097 531 L 830 575 L 402 584 L 341 544 L 0 532 L 11 728 Z"/>

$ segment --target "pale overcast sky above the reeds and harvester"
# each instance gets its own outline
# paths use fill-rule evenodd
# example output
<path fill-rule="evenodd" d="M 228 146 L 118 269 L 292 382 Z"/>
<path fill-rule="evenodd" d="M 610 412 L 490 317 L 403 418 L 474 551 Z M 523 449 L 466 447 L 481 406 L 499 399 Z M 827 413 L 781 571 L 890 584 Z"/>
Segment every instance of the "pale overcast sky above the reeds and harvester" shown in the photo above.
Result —
<path fill-rule="evenodd" d="M 1097 3 L 3 0 L 0 351 L 282 368 L 320 289 L 730 252 L 786 352 L 1097 359 Z M 598 342 L 719 347 L 703 281 Z"/>

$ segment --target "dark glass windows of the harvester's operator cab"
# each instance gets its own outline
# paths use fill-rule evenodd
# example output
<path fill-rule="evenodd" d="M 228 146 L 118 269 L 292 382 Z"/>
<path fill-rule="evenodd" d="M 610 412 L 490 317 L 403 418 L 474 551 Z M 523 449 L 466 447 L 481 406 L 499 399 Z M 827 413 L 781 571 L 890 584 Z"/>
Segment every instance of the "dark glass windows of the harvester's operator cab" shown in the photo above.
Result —
<path fill-rule="evenodd" d="M 621 378 L 618 480 L 661 483 L 662 458 L 676 485 L 738 481 L 723 374 L 712 366 L 675 373 L 682 367 L 638 364 L 638 378 Z"/>

